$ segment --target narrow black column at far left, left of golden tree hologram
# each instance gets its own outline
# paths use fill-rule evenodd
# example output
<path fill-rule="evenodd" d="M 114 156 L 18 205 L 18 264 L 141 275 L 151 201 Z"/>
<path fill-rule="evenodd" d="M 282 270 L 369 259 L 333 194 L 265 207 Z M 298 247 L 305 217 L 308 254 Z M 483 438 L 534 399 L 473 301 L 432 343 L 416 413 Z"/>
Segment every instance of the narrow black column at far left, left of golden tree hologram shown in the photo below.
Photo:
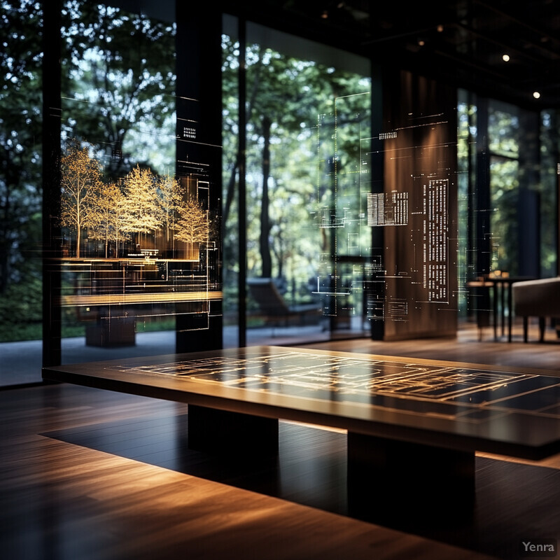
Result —
<path fill-rule="evenodd" d="M 43 365 L 61 360 L 60 77 L 61 8 L 43 1 Z"/>

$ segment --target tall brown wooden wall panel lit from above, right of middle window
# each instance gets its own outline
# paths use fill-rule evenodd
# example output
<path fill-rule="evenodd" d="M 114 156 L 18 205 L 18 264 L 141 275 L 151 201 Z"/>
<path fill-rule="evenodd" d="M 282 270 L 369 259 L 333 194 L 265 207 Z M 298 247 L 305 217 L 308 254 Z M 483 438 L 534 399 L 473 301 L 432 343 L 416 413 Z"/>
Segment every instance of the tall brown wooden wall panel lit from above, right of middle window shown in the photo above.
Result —
<path fill-rule="evenodd" d="M 383 226 L 383 337 L 455 335 L 456 92 L 401 72 L 385 77 L 384 98 L 386 208 L 402 193 L 408 211 L 406 223 Z"/>

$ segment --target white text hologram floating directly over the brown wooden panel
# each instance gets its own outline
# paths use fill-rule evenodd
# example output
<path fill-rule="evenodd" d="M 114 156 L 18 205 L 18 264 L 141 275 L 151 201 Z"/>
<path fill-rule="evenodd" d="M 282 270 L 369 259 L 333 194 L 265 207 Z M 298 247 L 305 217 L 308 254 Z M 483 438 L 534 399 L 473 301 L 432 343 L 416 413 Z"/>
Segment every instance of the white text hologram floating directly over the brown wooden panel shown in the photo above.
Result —
<path fill-rule="evenodd" d="M 367 199 L 375 267 L 368 312 L 384 322 L 384 337 L 454 332 L 454 118 L 408 111 L 392 122 L 395 128 L 379 134 L 372 151 L 384 176 L 382 185 L 372 183 Z"/>

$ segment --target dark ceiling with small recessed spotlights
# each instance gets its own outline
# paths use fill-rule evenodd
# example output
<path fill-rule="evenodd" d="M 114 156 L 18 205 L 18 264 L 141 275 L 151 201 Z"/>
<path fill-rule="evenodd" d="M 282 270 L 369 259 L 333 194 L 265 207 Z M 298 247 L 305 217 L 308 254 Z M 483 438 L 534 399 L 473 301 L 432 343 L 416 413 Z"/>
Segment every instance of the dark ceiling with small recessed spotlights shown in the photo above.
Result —
<path fill-rule="evenodd" d="M 560 108 L 558 0 L 248 0 L 235 6 L 234 15 L 488 97 Z"/>

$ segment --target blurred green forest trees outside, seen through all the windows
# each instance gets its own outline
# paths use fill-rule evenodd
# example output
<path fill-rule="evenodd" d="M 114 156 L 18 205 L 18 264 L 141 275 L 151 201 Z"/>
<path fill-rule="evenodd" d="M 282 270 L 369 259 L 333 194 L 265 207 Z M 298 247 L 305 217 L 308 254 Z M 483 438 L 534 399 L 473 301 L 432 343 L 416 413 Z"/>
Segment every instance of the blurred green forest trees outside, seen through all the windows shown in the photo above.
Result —
<path fill-rule="evenodd" d="M 91 146 L 107 183 L 124 179 L 134 169 L 174 176 L 174 24 L 83 0 L 66 1 L 62 15 L 64 153 L 74 139 Z M 41 18 L 41 3 L 36 1 L 1 3 L 0 341 L 41 337 L 41 82 L 48 79 L 41 71 Z M 224 36 L 221 236 L 226 314 L 235 314 L 239 274 L 238 69 L 239 45 Z M 357 95 L 370 91 L 370 77 L 251 44 L 246 83 L 247 276 L 273 277 L 288 302 L 302 302 L 311 297 L 309 281 L 319 266 L 317 255 L 325 248 L 324 230 L 317 221 L 322 219 L 321 209 L 332 205 L 333 165 L 349 170 L 350 186 L 347 195 L 337 194 L 335 211 L 357 212 L 363 202 L 350 171 L 370 123 L 371 99 Z M 330 130 L 335 100 L 346 96 L 346 126 L 339 128 L 336 150 L 328 134 L 318 147 L 317 131 L 321 126 Z M 459 100 L 458 159 L 464 171 L 469 166 L 468 146 L 476 141 L 475 116 L 476 106 Z M 550 133 L 545 148 L 546 142 L 553 145 L 550 153 L 558 144 L 556 122 L 552 113 L 542 116 L 542 126 Z M 492 179 L 493 223 L 499 239 L 495 265 L 514 273 L 519 122 L 513 113 L 493 111 L 489 126 L 498 155 Z M 360 127 L 363 132 L 356 132 Z M 542 204 L 542 272 L 547 275 L 555 265 L 555 165 L 543 164 L 553 170 L 535 186 Z M 458 188 L 462 216 L 468 205 L 464 176 Z M 468 224 L 461 227 L 460 237 L 471 235 Z M 464 263 L 461 274 L 466 279 Z"/>

